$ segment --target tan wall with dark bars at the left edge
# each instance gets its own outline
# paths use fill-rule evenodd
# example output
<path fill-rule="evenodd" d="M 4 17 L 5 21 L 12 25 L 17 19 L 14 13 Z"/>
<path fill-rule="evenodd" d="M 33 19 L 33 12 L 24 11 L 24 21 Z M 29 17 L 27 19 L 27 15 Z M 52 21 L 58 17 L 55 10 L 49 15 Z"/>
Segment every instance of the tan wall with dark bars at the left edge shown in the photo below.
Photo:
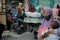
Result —
<path fill-rule="evenodd" d="M 0 0 L 2 7 L 0 7 L 0 23 L 6 25 L 5 0 Z"/>

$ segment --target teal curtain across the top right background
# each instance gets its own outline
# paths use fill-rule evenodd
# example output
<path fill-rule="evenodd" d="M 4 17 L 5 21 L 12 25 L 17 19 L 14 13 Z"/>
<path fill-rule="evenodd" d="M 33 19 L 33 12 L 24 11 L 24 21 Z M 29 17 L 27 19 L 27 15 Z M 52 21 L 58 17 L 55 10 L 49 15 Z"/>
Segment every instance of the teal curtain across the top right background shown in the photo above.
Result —
<path fill-rule="evenodd" d="M 34 4 L 34 6 L 43 5 L 53 8 L 55 3 L 60 4 L 60 0 L 31 0 L 31 3 Z"/>

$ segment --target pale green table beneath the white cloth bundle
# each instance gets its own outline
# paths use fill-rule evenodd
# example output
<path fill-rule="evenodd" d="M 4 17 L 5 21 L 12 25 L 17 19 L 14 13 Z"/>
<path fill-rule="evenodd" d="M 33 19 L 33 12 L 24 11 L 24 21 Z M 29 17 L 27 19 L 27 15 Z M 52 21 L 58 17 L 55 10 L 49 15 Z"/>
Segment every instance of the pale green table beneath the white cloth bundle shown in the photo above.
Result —
<path fill-rule="evenodd" d="M 24 22 L 27 23 L 27 31 L 30 29 L 29 24 L 40 24 L 42 23 L 42 19 L 38 17 L 26 17 L 24 18 Z"/>

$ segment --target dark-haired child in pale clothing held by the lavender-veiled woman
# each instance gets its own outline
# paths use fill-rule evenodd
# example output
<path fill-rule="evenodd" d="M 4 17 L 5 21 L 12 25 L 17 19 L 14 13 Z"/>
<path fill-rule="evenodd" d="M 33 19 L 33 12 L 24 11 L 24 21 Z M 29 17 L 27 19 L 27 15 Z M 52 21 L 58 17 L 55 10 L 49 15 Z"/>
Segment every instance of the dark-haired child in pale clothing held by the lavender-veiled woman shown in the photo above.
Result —
<path fill-rule="evenodd" d="M 59 40 L 59 23 L 53 21 L 50 24 L 50 29 L 44 35 L 40 36 L 41 40 Z"/>

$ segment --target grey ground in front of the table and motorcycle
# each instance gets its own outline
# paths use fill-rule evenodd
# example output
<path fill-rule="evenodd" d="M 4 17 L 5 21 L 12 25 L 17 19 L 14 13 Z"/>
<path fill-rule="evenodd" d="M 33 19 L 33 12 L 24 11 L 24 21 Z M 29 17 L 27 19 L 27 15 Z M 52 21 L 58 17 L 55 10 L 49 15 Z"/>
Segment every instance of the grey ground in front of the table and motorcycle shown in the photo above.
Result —
<path fill-rule="evenodd" d="M 4 32 L 2 40 L 36 40 L 34 39 L 33 33 L 31 32 L 25 32 L 21 35 L 18 35 L 14 32 Z"/>

